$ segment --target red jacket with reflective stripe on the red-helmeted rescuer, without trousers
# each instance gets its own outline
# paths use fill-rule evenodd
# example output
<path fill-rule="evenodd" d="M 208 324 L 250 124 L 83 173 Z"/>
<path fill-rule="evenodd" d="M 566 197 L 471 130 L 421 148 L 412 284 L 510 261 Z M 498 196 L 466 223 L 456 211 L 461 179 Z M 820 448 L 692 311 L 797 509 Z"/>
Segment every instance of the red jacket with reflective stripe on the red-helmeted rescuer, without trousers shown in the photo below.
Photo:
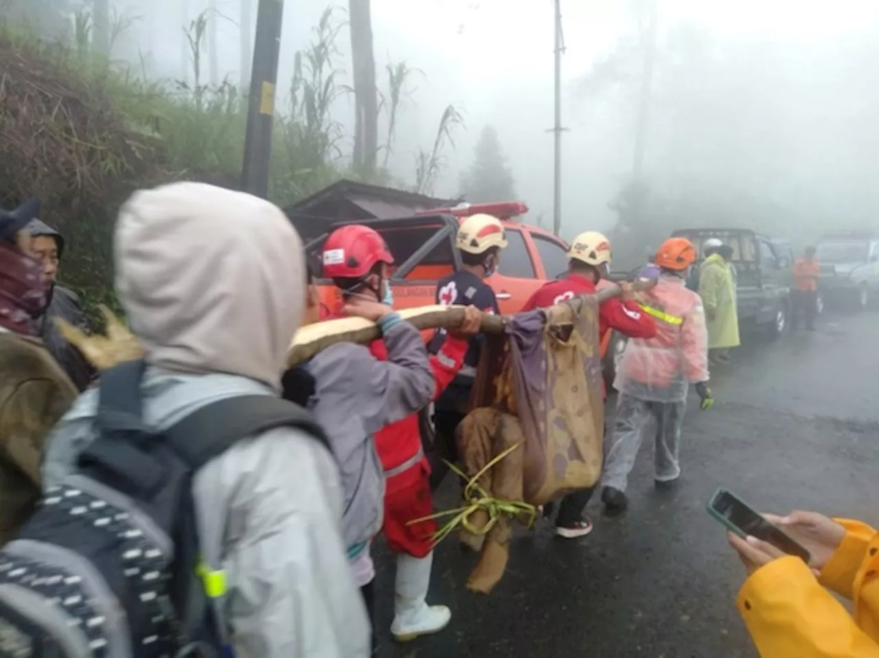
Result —
<path fill-rule="evenodd" d="M 446 390 L 448 384 L 451 384 L 454 376 L 458 374 L 469 345 L 469 340 L 461 340 L 449 335 L 439 349 L 439 354 L 431 355 L 431 369 L 437 384 L 436 390 L 433 391 L 433 399 L 439 398 L 439 394 Z M 369 345 L 369 351 L 379 361 L 385 361 L 388 358 L 388 350 L 382 340 L 374 340 Z M 386 473 L 400 469 L 401 466 L 417 457 L 422 450 L 418 413 L 413 413 L 403 420 L 397 420 L 396 423 L 381 428 L 375 434 L 375 450 L 379 453 L 381 466 Z M 421 459 L 415 464 L 422 464 L 428 471 L 430 469 L 424 453 L 421 453 Z M 409 486 L 421 477 L 422 472 L 422 469 L 408 468 L 389 474 L 386 493 L 389 494 Z"/>

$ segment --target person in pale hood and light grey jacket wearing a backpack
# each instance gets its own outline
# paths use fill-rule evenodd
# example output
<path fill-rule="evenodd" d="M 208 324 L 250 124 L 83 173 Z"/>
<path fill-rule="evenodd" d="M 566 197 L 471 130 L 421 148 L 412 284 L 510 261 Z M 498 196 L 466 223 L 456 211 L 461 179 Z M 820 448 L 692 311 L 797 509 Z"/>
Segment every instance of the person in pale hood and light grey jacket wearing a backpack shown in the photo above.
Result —
<path fill-rule="evenodd" d="M 193 258 L 198 254 L 198 258 Z M 144 420 L 159 430 L 224 398 L 279 396 L 301 324 L 299 235 L 272 203 L 200 183 L 135 193 L 120 210 L 116 289 L 146 352 Z M 96 436 L 98 390 L 49 437 L 44 486 L 62 483 Z M 362 658 L 366 608 L 343 542 L 343 489 L 304 430 L 246 437 L 193 479 L 200 549 L 226 573 L 217 606 L 234 653 Z"/>

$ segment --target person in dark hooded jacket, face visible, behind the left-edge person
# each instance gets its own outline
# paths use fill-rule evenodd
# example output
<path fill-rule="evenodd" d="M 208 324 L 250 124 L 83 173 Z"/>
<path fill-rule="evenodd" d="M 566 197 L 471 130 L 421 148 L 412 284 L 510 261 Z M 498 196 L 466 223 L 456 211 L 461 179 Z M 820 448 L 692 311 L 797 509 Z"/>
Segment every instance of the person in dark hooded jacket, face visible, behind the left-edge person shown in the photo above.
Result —
<path fill-rule="evenodd" d="M 83 309 L 76 293 L 57 283 L 58 267 L 64 255 L 64 237 L 57 230 L 37 219 L 39 206 L 34 208 L 33 219 L 25 226 L 31 236 L 33 253 L 42 266 L 42 284 L 46 290 L 46 311 L 37 318 L 40 339 L 67 372 L 70 379 L 80 391 L 91 383 L 95 377 L 95 369 L 84 358 L 76 347 L 71 345 L 55 324 L 54 318 L 67 320 L 77 329 L 85 329 Z"/>

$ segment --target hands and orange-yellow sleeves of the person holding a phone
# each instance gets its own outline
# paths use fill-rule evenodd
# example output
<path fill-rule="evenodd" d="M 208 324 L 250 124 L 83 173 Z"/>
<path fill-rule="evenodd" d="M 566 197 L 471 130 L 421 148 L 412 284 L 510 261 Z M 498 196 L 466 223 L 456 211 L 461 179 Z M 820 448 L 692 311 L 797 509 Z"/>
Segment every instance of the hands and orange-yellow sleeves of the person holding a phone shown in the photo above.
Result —
<path fill-rule="evenodd" d="M 759 654 L 879 656 L 879 533 L 866 523 L 816 512 L 766 518 L 803 545 L 810 562 L 755 537 L 730 534 L 730 545 L 748 572 L 737 607 Z M 851 601 L 854 613 L 837 596 Z"/>

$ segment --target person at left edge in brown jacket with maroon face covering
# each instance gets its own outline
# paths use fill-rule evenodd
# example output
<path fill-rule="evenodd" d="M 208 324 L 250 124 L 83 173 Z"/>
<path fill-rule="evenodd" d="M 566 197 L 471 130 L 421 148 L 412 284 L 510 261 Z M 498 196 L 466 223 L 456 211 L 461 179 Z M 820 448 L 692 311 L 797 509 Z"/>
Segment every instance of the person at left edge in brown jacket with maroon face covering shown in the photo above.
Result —
<path fill-rule="evenodd" d="M 22 230 L 33 202 L 0 211 L 0 545 L 40 500 L 40 463 L 49 429 L 76 388 L 37 338 L 45 291 L 31 238 Z"/>

